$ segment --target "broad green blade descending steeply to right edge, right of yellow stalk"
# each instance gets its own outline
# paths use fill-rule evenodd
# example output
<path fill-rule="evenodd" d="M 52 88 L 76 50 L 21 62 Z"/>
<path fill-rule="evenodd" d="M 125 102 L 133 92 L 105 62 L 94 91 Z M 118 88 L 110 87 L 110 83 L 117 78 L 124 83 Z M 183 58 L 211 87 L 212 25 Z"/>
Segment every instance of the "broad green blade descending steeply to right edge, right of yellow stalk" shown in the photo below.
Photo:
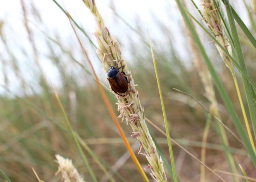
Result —
<path fill-rule="evenodd" d="M 227 10 L 228 20 L 230 24 L 231 33 L 234 39 L 234 45 L 235 50 L 237 52 L 239 64 L 242 67 L 242 69 L 248 74 L 247 68 L 246 68 L 246 62 L 244 60 L 244 54 L 242 52 L 242 47 L 239 41 L 237 29 L 235 27 L 235 21 L 232 15 L 232 10 L 229 4 L 228 0 L 224 0 L 225 7 Z M 244 75 L 242 75 L 242 80 L 244 83 L 244 89 L 246 91 L 246 99 L 249 106 L 250 116 L 251 116 L 251 122 L 253 123 L 253 131 L 254 131 L 254 137 L 256 138 L 256 102 L 254 102 L 253 92 L 251 85 L 249 84 L 248 80 Z"/>

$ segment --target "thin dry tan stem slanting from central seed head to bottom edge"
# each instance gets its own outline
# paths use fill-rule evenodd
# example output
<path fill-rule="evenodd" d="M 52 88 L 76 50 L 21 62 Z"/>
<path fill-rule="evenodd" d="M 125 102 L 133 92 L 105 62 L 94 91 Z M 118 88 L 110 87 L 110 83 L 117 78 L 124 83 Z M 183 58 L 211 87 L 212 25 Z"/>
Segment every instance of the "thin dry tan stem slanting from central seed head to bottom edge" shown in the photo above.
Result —
<path fill-rule="evenodd" d="M 147 122 L 149 122 L 154 128 L 156 128 L 158 131 L 160 131 L 164 136 L 167 137 L 166 133 L 164 133 L 163 130 L 161 130 L 158 126 L 156 126 L 152 121 L 150 121 L 149 119 L 147 119 L 147 117 L 145 117 L 145 120 Z M 170 137 L 171 141 L 178 146 L 181 150 L 185 151 L 185 153 L 187 153 L 189 156 L 191 156 L 192 158 L 194 158 L 197 162 L 199 162 L 201 165 L 203 165 L 205 168 L 207 168 L 211 173 L 213 173 L 218 179 L 220 179 L 222 182 L 225 182 L 224 179 L 222 179 L 216 172 L 214 172 L 211 168 L 209 168 L 207 165 L 205 165 L 204 163 L 202 163 L 201 160 L 199 160 L 198 158 L 196 158 L 192 153 L 190 153 L 189 151 L 187 151 L 185 148 L 183 148 L 180 144 L 178 144 L 174 139 L 172 139 Z"/>

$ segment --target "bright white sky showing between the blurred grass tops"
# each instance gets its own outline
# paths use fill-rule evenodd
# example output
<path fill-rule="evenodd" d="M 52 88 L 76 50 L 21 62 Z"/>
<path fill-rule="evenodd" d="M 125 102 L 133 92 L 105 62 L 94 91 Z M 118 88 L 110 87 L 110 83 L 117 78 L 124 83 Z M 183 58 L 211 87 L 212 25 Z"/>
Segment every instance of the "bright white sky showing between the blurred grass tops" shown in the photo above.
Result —
<path fill-rule="evenodd" d="M 174 0 L 95 0 L 96 5 L 99 11 L 104 18 L 105 24 L 110 30 L 111 34 L 114 35 L 118 41 L 121 42 L 123 47 L 129 43 L 130 38 L 135 41 L 138 39 L 138 36 L 131 33 L 130 29 L 125 26 L 118 18 L 112 13 L 112 10 L 109 8 L 109 5 L 114 4 L 114 7 L 119 15 L 123 17 L 129 24 L 132 26 L 136 25 L 136 20 L 139 17 L 141 20 L 140 27 L 142 28 L 143 36 L 147 36 L 147 29 L 149 29 L 150 36 L 152 39 L 157 40 L 157 44 L 164 45 L 166 35 L 163 35 L 162 32 L 159 32 L 159 29 L 156 28 L 158 25 L 155 25 L 152 20 L 152 14 L 154 14 L 160 22 L 168 27 L 172 31 L 174 36 L 175 46 L 178 51 L 180 51 L 180 57 L 186 59 L 188 57 L 186 50 L 183 49 L 185 43 L 184 38 L 180 34 L 180 29 L 177 24 L 182 24 L 182 19 L 180 13 L 177 10 L 176 3 Z M 66 43 L 67 45 L 73 44 L 79 48 L 76 38 L 74 36 L 73 30 L 69 24 L 68 19 L 64 13 L 55 5 L 52 0 L 24 0 L 27 11 L 28 19 L 31 22 L 34 22 L 40 29 L 47 31 L 47 34 L 54 37 L 57 33 L 61 37 L 61 42 Z M 62 5 L 64 3 L 67 11 L 71 16 L 81 24 L 85 31 L 92 38 L 93 42 L 96 43 L 95 38 L 92 36 L 94 32 L 94 19 L 90 11 L 85 7 L 82 0 L 57 0 Z M 199 5 L 199 1 L 196 1 Z M 242 2 L 242 1 L 239 1 Z M 33 3 L 36 9 L 39 10 L 39 13 L 42 17 L 43 24 L 40 24 L 31 13 L 31 3 Z M 239 9 L 241 10 L 241 9 Z M 244 11 L 242 11 L 244 12 Z M 246 16 L 246 15 L 244 15 Z M 19 62 L 19 66 L 22 69 L 22 73 L 26 75 L 27 80 L 30 82 L 30 85 L 36 85 L 37 82 L 34 79 L 36 77 L 35 63 L 33 63 L 33 53 L 31 50 L 31 45 L 28 42 L 28 35 L 24 29 L 22 10 L 20 0 L 0 0 L 0 20 L 4 20 L 5 25 L 3 27 L 3 32 L 6 36 L 9 48 L 15 53 L 15 56 Z M 247 23 L 247 19 L 246 23 Z M 52 67 L 52 63 L 47 58 L 48 48 L 45 45 L 45 37 L 42 33 L 33 25 L 29 24 L 30 28 L 35 32 L 35 42 L 36 47 L 40 50 L 40 65 L 42 66 L 46 77 L 50 78 L 54 85 L 58 85 L 57 70 Z M 81 37 L 82 34 L 80 33 Z M 84 44 L 86 47 L 89 47 L 88 41 L 86 38 Z M 142 44 L 142 48 L 143 48 Z M 20 47 L 25 49 L 29 54 L 28 57 L 24 56 L 21 53 Z M 162 48 L 162 47 L 161 47 Z M 146 49 L 146 48 L 145 48 Z M 157 47 L 155 48 L 157 49 Z M 91 59 L 95 59 L 95 53 L 92 49 L 88 48 L 89 55 Z M 126 61 L 131 61 L 128 54 L 128 50 L 125 48 L 122 49 L 123 56 L 126 58 Z M 56 54 L 60 54 L 59 51 L 56 51 Z M 9 57 L 6 54 L 6 50 L 3 47 L 3 44 L 0 43 L 0 55 L 5 61 L 9 61 Z M 1 57 L 0 57 L 1 59 Z M 80 58 L 78 58 L 79 60 Z M 32 61 L 32 62 L 31 62 Z M 63 60 L 65 61 L 65 59 Z M 67 60 L 66 60 L 67 61 Z M 67 61 L 68 63 L 68 61 Z M 96 70 L 100 72 L 101 68 L 97 62 L 94 64 Z M 68 66 L 67 66 L 68 67 Z M 0 69 L 2 70 L 2 61 L 0 62 Z M 9 68 L 11 70 L 11 68 Z M 19 88 L 19 83 L 16 76 L 12 71 L 8 71 L 8 77 L 11 80 L 10 87 L 13 91 Z M 33 70 L 33 71 L 31 71 Z M 106 76 L 106 75 L 105 75 Z M 105 77 L 105 76 L 102 76 Z M 3 74 L 0 73 L 0 84 L 3 84 Z M 0 87 L 0 93 L 2 93 L 2 88 Z"/>

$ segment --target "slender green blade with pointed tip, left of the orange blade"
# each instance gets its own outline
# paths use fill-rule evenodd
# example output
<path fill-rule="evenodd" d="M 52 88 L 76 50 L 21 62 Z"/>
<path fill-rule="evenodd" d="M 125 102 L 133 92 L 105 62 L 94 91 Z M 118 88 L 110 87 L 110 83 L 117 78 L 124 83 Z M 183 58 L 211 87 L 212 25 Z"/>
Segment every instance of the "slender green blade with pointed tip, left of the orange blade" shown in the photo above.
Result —
<path fill-rule="evenodd" d="M 88 170 L 88 172 L 90 173 L 90 176 L 92 177 L 93 181 L 94 181 L 94 182 L 97 182 L 97 179 L 96 179 L 96 177 L 95 177 L 95 175 L 94 175 L 94 173 L 93 173 L 93 171 L 92 171 L 92 168 L 90 167 L 90 164 L 88 163 L 88 160 L 87 160 L 85 154 L 83 153 L 83 150 L 82 150 L 82 148 L 81 148 L 81 146 L 80 146 L 80 143 L 78 142 L 78 139 L 76 138 L 76 136 L 75 136 L 75 134 L 74 134 L 74 131 L 73 131 L 72 127 L 71 127 L 71 124 L 70 124 L 70 122 L 69 122 L 69 119 L 67 118 L 67 115 L 66 115 L 66 112 L 65 112 L 65 110 L 64 110 L 64 107 L 63 107 L 63 105 L 62 105 L 62 103 L 61 103 L 61 100 L 59 99 L 59 96 L 57 95 L 57 92 L 55 91 L 55 88 L 53 87 L 53 85 L 52 85 L 52 88 L 54 89 L 54 93 L 55 93 L 56 99 L 58 100 L 58 103 L 59 103 L 59 105 L 60 105 L 60 107 L 61 107 L 61 111 L 62 111 L 62 113 L 64 114 L 64 117 L 65 117 L 65 120 L 66 120 L 66 122 L 67 122 L 67 125 L 68 125 L 68 127 L 69 127 L 69 129 L 70 129 L 70 131 L 71 131 L 71 133 L 72 133 L 72 136 L 73 136 L 73 138 L 74 138 L 74 141 L 75 141 L 75 143 L 76 143 L 76 146 L 78 147 L 79 153 L 80 153 L 80 155 L 82 156 L 83 161 L 85 162 L 85 165 L 86 165 L 86 167 L 87 167 L 87 170 Z"/>

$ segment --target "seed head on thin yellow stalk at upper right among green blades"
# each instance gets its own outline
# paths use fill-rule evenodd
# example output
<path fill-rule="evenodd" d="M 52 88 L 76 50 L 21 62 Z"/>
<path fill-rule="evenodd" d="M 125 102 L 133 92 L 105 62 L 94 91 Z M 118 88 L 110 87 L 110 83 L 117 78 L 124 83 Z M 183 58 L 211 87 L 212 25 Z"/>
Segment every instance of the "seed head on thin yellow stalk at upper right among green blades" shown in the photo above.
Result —
<path fill-rule="evenodd" d="M 213 35 L 216 37 L 216 40 L 221 44 L 221 46 L 223 46 L 226 49 L 226 51 L 230 55 L 232 55 L 232 48 L 230 45 L 230 40 L 228 40 L 226 33 L 225 33 L 225 26 L 224 26 L 223 20 L 221 19 L 221 12 L 218 11 L 218 9 L 220 7 L 219 1 L 215 0 L 214 2 L 213 2 L 213 0 L 201 0 L 202 6 L 203 6 L 202 15 L 203 15 L 204 19 L 206 20 L 206 23 L 210 27 L 211 31 L 213 31 Z M 246 112 L 244 109 L 244 104 L 243 104 L 242 97 L 240 94 L 239 86 L 237 84 L 237 78 L 235 76 L 233 63 L 230 60 L 230 58 L 228 58 L 228 56 L 225 54 L 225 52 L 220 48 L 220 46 L 218 46 L 217 44 L 215 44 L 215 45 L 221 55 L 222 60 L 224 61 L 224 63 L 226 64 L 226 66 L 229 68 L 229 70 L 232 73 L 232 77 L 235 82 L 235 88 L 237 90 L 237 95 L 239 98 L 239 103 L 240 103 L 242 113 L 244 116 L 244 121 L 246 124 L 247 134 L 249 136 L 251 145 L 253 146 L 253 150 L 256 153 L 253 136 L 252 136 L 251 130 L 249 128 L 249 122 L 248 122 Z"/>

